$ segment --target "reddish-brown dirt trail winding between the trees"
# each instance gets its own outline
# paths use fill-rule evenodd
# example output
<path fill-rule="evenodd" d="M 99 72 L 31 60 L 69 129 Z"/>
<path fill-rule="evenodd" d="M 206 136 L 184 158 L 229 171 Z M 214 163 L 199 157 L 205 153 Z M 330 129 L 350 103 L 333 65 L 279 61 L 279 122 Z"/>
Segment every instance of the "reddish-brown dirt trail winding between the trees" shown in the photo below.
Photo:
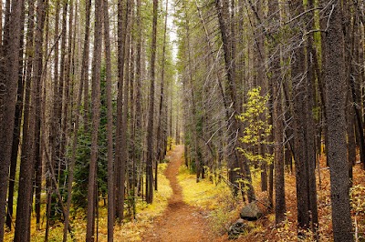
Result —
<path fill-rule="evenodd" d="M 172 186 L 172 197 L 166 211 L 153 222 L 151 229 L 143 235 L 142 241 L 203 242 L 214 239 L 203 211 L 183 201 L 182 187 L 176 177 L 182 165 L 183 146 L 176 146 L 165 170 L 165 176 Z"/>

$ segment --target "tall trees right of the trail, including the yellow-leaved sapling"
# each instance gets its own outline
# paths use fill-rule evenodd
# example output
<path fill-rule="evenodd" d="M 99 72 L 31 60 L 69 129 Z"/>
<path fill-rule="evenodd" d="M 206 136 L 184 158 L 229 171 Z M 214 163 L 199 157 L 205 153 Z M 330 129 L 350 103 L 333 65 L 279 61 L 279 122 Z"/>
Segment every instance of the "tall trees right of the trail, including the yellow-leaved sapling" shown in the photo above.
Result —
<path fill-rule="evenodd" d="M 259 175 L 279 224 L 287 212 L 285 170 L 295 169 L 298 231 L 316 235 L 316 168 L 318 157 L 327 156 L 334 238 L 352 240 L 349 187 L 357 146 L 364 164 L 363 7 L 358 1 L 178 2 L 187 164 L 198 180 L 204 173 L 228 176 L 234 193 L 251 202 Z"/>

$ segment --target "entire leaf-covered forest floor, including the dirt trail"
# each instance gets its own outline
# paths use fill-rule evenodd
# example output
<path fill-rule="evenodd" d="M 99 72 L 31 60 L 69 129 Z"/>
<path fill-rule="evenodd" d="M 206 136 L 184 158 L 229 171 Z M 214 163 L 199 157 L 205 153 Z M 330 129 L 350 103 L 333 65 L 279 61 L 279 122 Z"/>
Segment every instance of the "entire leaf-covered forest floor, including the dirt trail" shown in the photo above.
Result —
<path fill-rule="evenodd" d="M 168 163 L 159 165 L 159 190 L 154 193 L 153 204 L 138 200 L 136 219 L 126 219 L 114 228 L 114 241 L 173 241 L 173 242 L 227 242 L 227 231 L 237 218 L 245 203 L 242 197 L 233 197 L 224 179 L 217 179 L 207 171 L 206 178 L 196 182 L 196 175 L 183 165 L 183 146 L 174 146 L 166 156 Z M 360 159 L 360 158 L 359 158 Z M 359 160 L 358 159 L 358 160 Z M 331 226 L 330 182 L 326 158 L 319 157 L 318 177 L 318 218 L 319 241 L 333 241 Z M 365 241 L 365 172 L 357 164 L 353 167 L 354 186 L 351 188 L 351 215 L 357 241 Z M 226 175 L 226 171 L 223 171 Z M 267 192 L 260 190 L 260 174 L 254 173 L 253 185 L 257 201 L 265 203 Z M 294 170 L 286 172 L 287 218 L 280 226 L 275 225 L 275 213 L 265 211 L 257 221 L 246 222 L 250 229 L 236 242 L 301 241 L 311 242 L 312 234 L 303 240 L 297 239 L 297 198 Z M 15 207 L 16 208 L 16 207 Z M 264 211 L 264 210 L 263 210 Z M 45 214 L 45 207 L 43 207 Z M 99 204 L 99 241 L 107 241 L 108 209 Z M 44 241 L 46 219 L 36 228 L 36 218 L 32 216 L 31 241 Z M 75 240 L 85 241 L 85 214 L 77 211 L 73 216 Z M 50 228 L 49 241 L 62 241 L 63 224 L 56 223 Z M 14 229 L 5 233 L 4 241 L 13 241 Z M 232 240 L 231 240 L 232 241 Z"/>

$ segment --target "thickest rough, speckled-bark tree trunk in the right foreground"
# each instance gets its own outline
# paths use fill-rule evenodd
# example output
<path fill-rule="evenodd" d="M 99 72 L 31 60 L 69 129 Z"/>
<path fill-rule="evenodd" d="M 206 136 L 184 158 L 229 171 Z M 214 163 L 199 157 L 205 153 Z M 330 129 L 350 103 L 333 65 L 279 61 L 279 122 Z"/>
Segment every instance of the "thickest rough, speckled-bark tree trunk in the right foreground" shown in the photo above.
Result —
<path fill-rule="evenodd" d="M 346 76 L 344 35 L 340 1 L 323 1 L 327 6 L 328 29 L 323 33 L 325 58 L 323 72 L 326 84 L 326 116 L 328 126 L 328 164 L 331 183 L 332 227 L 334 240 L 353 241 L 349 207 L 349 164 L 346 153 Z"/>

